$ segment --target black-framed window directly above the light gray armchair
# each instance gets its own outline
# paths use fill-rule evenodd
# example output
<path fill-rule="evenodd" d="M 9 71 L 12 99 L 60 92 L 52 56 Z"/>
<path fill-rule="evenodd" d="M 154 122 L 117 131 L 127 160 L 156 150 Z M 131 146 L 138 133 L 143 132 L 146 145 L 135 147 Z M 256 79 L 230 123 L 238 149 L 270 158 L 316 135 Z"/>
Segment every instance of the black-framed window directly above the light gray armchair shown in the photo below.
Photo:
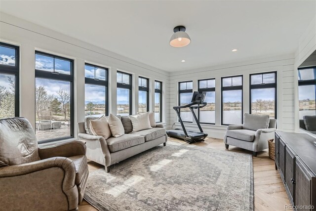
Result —
<path fill-rule="evenodd" d="M 250 75 L 250 113 L 276 119 L 276 72 Z"/>

